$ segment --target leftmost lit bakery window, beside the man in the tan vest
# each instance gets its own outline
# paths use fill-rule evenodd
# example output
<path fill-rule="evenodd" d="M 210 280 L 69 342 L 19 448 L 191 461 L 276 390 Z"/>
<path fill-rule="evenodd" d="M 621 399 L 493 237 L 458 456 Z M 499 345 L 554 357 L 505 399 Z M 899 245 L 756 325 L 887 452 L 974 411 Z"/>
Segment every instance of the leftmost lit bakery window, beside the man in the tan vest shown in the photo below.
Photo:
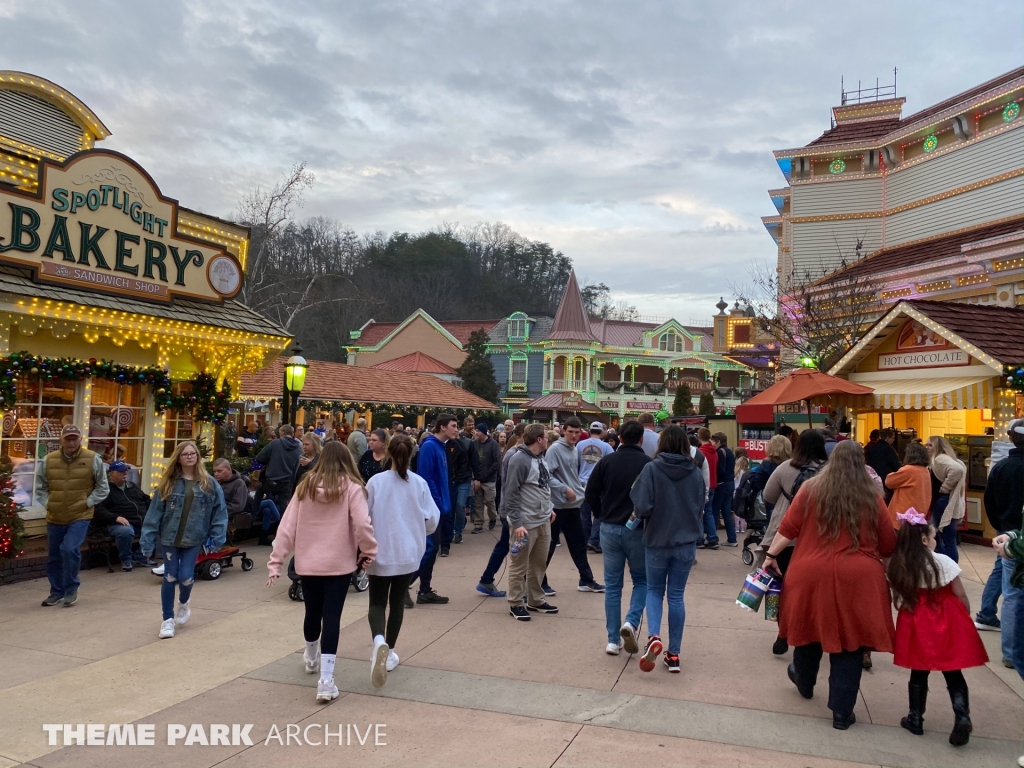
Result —
<path fill-rule="evenodd" d="M 3 417 L 0 456 L 13 468 L 14 503 L 35 503 L 36 462 L 60 450 L 60 428 L 75 423 L 75 382 L 17 379 L 17 401 Z"/>

